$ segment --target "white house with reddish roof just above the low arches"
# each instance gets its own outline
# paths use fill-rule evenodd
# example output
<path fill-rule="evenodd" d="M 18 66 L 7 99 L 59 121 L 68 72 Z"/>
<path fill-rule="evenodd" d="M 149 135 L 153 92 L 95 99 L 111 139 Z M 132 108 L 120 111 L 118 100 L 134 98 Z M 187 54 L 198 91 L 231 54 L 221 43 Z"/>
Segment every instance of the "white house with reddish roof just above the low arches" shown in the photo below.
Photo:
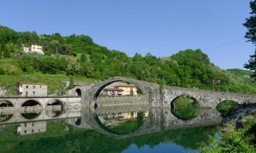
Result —
<path fill-rule="evenodd" d="M 42 83 L 19 83 L 18 93 L 23 97 L 47 96 L 47 85 Z"/>

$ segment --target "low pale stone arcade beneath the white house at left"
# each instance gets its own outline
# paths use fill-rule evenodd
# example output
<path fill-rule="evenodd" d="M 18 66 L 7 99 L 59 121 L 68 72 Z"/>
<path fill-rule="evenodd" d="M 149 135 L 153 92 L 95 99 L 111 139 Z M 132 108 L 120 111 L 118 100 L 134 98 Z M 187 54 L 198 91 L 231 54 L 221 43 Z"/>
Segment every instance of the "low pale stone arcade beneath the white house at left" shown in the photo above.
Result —
<path fill-rule="evenodd" d="M 66 96 L 66 97 L 0 97 L 0 101 L 9 102 L 12 110 L 18 110 L 25 107 L 27 103 L 33 103 L 34 109 L 46 109 L 48 104 L 57 102 L 62 107 L 81 107 L 81 97 L 79 96 Z M 36 105 L 36 106 L 35 106 Z M 8 109 L 8 107 L 1 107 L 1 109 Z"/>

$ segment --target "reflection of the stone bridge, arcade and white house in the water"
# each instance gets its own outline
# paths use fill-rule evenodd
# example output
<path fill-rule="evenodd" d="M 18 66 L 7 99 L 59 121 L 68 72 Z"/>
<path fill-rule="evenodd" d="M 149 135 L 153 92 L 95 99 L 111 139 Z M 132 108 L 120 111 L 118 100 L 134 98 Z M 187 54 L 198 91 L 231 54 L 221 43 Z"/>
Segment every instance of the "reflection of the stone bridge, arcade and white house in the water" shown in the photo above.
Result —
<path fill-rule="evenodd" d="M 139 116 L 142 117 L 139 118 Z M 169 108 L 158 109 L 147 105 L 131 105 L 125 108 L 121 106 L 99 107 L 96 110 L 83 107 L 55 111 L 4 112 L 0 115 L 0 126 L 18 124 L 17 133 L 28 135 L 46 131 L 48 120 L 61 120 L 79 129 L 92 129 L 123 139 L 163 130 L 217 125 L 221 124 L 222 118 L 216 109 L 201 109 L 195 118 L 182 120 L 175 117 Z"/>

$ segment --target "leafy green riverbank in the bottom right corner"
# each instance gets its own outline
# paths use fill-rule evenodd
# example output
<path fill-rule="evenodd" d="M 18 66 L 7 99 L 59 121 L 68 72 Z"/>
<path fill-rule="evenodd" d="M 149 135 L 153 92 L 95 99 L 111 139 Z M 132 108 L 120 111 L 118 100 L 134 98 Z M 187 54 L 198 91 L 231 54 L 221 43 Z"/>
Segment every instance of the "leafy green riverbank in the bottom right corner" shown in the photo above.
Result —
<path fill-rule="evenodd" d="M 256 109 L 238 109 L 223 119 L 221 138 L 210 137 L 210 145 L 203 143 L 203 153 L 256 152 Z"/>

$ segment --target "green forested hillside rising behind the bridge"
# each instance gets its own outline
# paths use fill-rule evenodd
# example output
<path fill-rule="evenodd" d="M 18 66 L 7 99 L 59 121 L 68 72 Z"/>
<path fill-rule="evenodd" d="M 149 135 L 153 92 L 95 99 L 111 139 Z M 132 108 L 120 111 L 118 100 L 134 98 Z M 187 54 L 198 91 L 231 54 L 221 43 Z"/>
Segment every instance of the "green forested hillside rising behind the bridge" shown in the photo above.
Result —
<path fill-rule="evenodd" d="M 45 54 L 25 54 L 23 46 L 31 44 L 42 45 Z M 129 57 L 94 44 L 87 35 L 38 35 L 0 27 L 0 58 L 0 84 L 4 86 L 10 82 L 8 78 L 20 74 L 81 76 L 98 81 L 119 75 L 170 86 L 256 93 L 250 78 L 219 69 L 201 50 L 162 58 L 150 53 Z"/>

